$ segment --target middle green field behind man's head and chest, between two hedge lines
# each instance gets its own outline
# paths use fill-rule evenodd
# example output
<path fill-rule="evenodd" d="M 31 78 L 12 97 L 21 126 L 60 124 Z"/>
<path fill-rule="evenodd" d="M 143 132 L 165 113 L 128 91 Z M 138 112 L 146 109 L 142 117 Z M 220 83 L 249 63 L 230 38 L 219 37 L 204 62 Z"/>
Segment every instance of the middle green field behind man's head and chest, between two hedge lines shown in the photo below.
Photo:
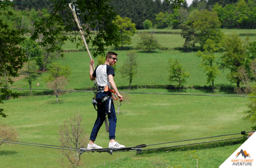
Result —
<path fill-rule="evenodd" d="M 117 86 L 129 86 L 127 78 L 122 78 L 119 68 L 127 57 L 129 51 L 116 51 L 118 53 L 116 80 Z M 184 53 L 179 50 L 157 50 L 153 53 L 143 53 L 136 50 L 138 53 L 138 75 L 133 78 L 132 85 L 169 85 L 169 59 L 178 59 L 183 65 L 183 68 L 190 73 L 190 77 L 187 79 L 185 86 L 204 86 L 206 83 L 206 75 L 202 72 L 202 68 L 198 65 L 201 59 L 197 57 L 196 52 Z M 68 64 L 72 69 L 72 75 L 70 77 L 70 85 L 67 89 L 75 88 L 87 88 L 93 87 L 93 82 L 89 76 L 89 62 L 90 58 L 87 52 L 66 52 L 64 59 L 59 59 L 62 65 Z M 97 59 L 95 59 L 97 65 Z M 230 85 L 230 82 L 226 79 L 226 72 L 222 72 L 216 81 L 216 85 Z M 46 89 L 44 77 L 47 73 L 41 74 L 41 77 L 33 82 L 33 88 Z M 36 86 L 36 83 L 40 83 L 40 86 Z M 173 83 L 177 85 L 177 83 Z M 28 83 L 23 80 L 18 80 L 14 83 L 16 88 L 28 88 Z"/>

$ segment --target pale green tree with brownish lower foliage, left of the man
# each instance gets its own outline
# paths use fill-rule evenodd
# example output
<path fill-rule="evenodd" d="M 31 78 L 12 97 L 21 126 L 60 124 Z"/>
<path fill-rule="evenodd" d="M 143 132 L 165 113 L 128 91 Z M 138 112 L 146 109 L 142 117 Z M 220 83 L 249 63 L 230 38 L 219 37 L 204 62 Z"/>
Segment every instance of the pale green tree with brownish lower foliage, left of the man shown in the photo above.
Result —
<path fill-rule="evenodd" d="M 71 69 L 68 65 L 62 66 L 60 63 L 52 63 L 49 68 L 49 76 L 45 78 L 48 87 L 54 90 L 56 102 L 58 103 L 58 95 L 62 93 L 68 85 L 68 77 L 71 75 Z"/>

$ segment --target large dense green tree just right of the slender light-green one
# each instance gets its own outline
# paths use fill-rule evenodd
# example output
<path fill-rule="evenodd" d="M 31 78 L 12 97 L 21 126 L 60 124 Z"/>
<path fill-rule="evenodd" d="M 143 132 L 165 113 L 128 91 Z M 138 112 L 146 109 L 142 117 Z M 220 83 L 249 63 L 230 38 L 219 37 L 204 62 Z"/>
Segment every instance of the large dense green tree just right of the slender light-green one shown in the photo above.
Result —
<path fill-rule="evenodd" d="M 221 57 L 221 65 L 230 70 L 227 78 L 230 82 L 236 82 L 237 88 L 240 88 L 240 79 L 237 77 L 238 68 L 244 64 L 247 57 L 246 46 L 247 39 L 243 42 L 238 34 L 226 35 L 224 39 L 224 53 Z"/>

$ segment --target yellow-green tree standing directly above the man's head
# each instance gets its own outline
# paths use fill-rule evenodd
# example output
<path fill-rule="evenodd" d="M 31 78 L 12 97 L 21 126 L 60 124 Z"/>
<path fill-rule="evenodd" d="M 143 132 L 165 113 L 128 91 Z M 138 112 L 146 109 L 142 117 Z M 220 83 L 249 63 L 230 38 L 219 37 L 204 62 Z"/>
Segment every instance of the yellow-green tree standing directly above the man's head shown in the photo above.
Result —
<path fill-rule="evenodd" d="M 121 39 L 121 47 L 124 44 L 132 44 L 131 36 L 134 36 L 134 34 L 137 32 L 135 23 L 132 23 L 132 20 L 130 18 L 122 18 L 119 15 L 116 16 L 115 20 L 113 20 L 113 23 L 115 23 L 118 26 Z"/>

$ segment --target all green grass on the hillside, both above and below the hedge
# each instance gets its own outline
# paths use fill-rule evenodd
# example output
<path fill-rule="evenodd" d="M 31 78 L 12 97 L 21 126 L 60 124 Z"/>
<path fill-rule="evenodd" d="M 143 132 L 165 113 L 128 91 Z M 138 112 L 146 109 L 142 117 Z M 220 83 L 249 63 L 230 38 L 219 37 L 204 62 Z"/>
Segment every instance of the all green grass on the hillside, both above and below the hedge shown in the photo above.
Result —
<path fill-rule="evenodd" d="M 167 29 L 168 30 L 168 29 Z M 162 31 L 167 31 L 162 30 Z M 169 30 L 174 31 L 174 30 Z M 177 30 L 179 31 L 179 30 Z M 228 34 L 228 30 L 225 34 Z M 242 32 L 242 30 L 235 30 Z M 250 30 L 253 33 L 254 30 Z M 184 40 L 180 35 L 156 34 L 159 43 L 165 47 L 173 48 L 182 46 Z M 241 38 L 245 38 L 241 36 Z M 252 41 L 256 40 L 252 36 Z M 254 39 L 254 40 L 253 40 Z M 138 34 L 133 38 L 134 47 L 139 40 Z M 75 44 L 66 42 L 63 46 L 65 50 L 76 49 Z M 114 50 L 109 47 L 107 50 Z M 117 50 L 118 62 L 116 76 L 114 77 L 118 87 L 128 86 L 129 81 L 121 78 L 119 68 L 126 59 L 127 50 Z M 138 53 L 138 76 L 134 78 L 132 85 L 169 85 L 168 60 L 178 59 L 183 68 L 190 73 L 186 86 L 204 86 L 206 76 L 202 69 L 198 67 L 200 59 L 196 52 L 184 53 L 179 50 L 156 50 L 146 53 L 136 50 Z M 220 56 L 220 54 L 218 54 Z M 89 56 L 87 52 L 66 52 L 65 58 L 57 60 L 62 65 L 68 64 L 72 68 L 70 85 L 67 89 L 93 87 L 93 82 L 89 79 Z M 95 59 L 97 64 L 97 59 Z M 223 71 L 215 84 L 217 86 L 230 86 L 226 79 L 228 71 Z M 42 73 L 33 82 L 32 89 L 47 89 L 44 77 L 47 73 Z M 36 86 L 36 83 L 40 86 Z M 177 85 L 176 83 L 173 83 Z M 232 85 L 231 85 L 232 86 Z M 24 79 L 14 82 L 12 87 L 29 88 Z M 120 90 L 121 92 L 136 93 L 177 93 L 177 90 L 166 89 L 133 89 Z M 29 91 L 17 91 L 29 92 Z M 33 91 L 38 92 L 38 91 Z M 186 89 L 183 94 L 211 94 L 207 90 Z M 215 95 L 231 95 L 226 91 L 217 90 Z M 23 96 L 19 99 L 10 99 L 1 104 L 5 109 L 7 118 L 0 118 L 0 123 L 6 123 L 17 129 L 19 141 L 59 145 L 58 129 L 64 120 L 73 117 L 73 113 L 83 115 L 82 124 L 84 131 L 90 135 L 91 129 L 96 119 L 96 111 L 93 108 L 91 99 L 92 92 L 72 92 L 59 96 L 59 103 L 53 95 L 43 96 Z M 244 97 L 221 97 L 221 96 L 184 96 L 184 95 L 156 95 L 156 94 L 124 94 L 127 101 L 120 107 L 120 115 L 117 116 L 116 140 L 125 146 L 135 146 L 139 144 L 156 144 L 172 141 L 180 141 L 191 138 L 216 136 L 230 133 L 249 131 L 251 124 L 244 121 L 243 111 L 247 109 L 249 99 Z M 117 109 L 117 107 L 116 107 Z M 230 137 L 240 137 L 229 136 Z M 211 139 L 225 139 L 219 137 Z M 187 143 L 207 142 L 193 141 Z M 96 144 L 108 147 L 108 136 L 101 128 Z M 167 147 L 173 145 L 184 145 L 186 143 L 165 144 L 152 146 L 153 148 Z M 239 145 L 197 150 L 201 167 L 218 167 L 224 162 Z M 147 147 L 146 149 L 150 149 Z M 160 158 L 167 164 L 195 167 L 195 161 L 189 158 L 185 160 L 184 151 L 165 152 L 157 154 L 136 155 L 134 152 L 120 152 L 110 155 L 108 153 L 83 153 L 83 167 L 102 166 L 104 167 L 155 167 L 151 160 Z M 61 167 L 59 160 L 60 151 L 57 149 L 39 148 L 22 145 L 2 145 L 0 147 L 1 167 Z M 117 162 L 117 158 L 119 161 Z M 123 158 L 123 159 L 122 159 Z M 113 163 L 114 160 L 114 163 Z"/>

